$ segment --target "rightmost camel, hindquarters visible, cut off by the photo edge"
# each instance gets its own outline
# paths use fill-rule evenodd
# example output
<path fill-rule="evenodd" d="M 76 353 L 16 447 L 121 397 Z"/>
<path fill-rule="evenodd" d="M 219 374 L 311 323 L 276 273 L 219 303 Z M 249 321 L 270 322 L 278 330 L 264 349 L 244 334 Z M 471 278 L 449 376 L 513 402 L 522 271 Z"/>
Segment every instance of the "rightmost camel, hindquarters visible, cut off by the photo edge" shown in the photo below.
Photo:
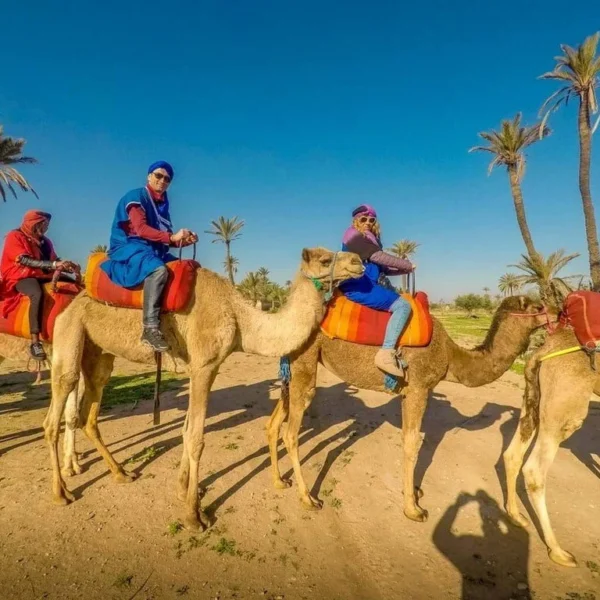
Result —
<path fill-rule="evenodd" d="M 590 398 L 600 395 L 600 376 L 584 352 L 540 359 L 550 353 L 578 346 L 570 329 L 548 336 L 544 345 L 527 361 L 525 394 L 519 426 L 504 453 L 506 468 L 506 511 L 522 527 L 527 519 L 517 504 L 517 477 L 523 457 L 535 434 L 533 450 L 523 467 L 525 487 L 542 528 L 550 558 L 565 567 L 577 566 L 575 557 L 558 543 L 546 507 L 546 478 L 558 446 L 577 431 L 588 413 Z M 600 360 L 594 357 L 600 369 Z"/>

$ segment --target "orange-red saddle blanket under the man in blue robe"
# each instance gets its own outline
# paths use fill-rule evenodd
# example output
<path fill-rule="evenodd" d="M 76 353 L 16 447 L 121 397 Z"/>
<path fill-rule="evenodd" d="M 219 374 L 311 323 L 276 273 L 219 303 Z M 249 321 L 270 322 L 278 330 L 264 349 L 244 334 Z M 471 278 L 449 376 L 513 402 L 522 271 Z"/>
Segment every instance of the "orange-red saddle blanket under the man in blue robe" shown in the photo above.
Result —
<path fill-rule="evenodd" d="M 113 283 L 100 265 L 108 260 L 104 252 L 94 252 L 88 259 L 85 271 L 85 290 L 94 300 L 106 302 L 121 308 L 142 308 L 144 303 L 143 286 L 132 289 Z M 174 260 L 166 264 L 169 280 L 163 295 L 163 312 L 179 312 L 188 305 L 194 293 L 196 269 L 200 264 L 195 260 Z"/>

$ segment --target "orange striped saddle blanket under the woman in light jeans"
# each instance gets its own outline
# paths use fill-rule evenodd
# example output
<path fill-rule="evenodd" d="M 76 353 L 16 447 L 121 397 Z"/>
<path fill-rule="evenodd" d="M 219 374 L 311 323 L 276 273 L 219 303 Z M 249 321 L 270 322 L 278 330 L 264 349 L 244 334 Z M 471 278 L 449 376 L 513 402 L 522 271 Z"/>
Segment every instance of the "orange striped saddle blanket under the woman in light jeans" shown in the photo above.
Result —
<path fill-rule="evenodd" d="M 427 294 L 417 292 L 414 297 L 411 294 L 402 294 L 402 297 L 410 303 L 412 314 L 399 345 L 427 346 L 433 334 Z M 367 346 L 381 346 L 390 317 L 391 313 L 374 310 L 352 302 L 342 294 L 336 294 L 327 307 L 321 330 L 331 338 Z"/>

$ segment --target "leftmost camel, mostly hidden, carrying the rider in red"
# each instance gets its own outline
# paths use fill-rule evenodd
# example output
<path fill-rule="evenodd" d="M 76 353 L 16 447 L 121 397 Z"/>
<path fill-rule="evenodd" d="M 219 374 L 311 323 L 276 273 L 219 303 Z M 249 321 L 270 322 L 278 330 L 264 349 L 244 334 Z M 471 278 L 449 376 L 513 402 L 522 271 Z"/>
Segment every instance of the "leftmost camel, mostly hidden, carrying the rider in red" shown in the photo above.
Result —
<path fill-rule="evenodd" d="M 5 359 L 26 359 L 29 357 L 28 339 L 0 333 L 0 365 Z M 52 358 L 52 345 L 44 342 L 44 350 L 48 358 Z M 39 374 L 39 372 L 38 372 Z M 37 383 L 37 380 L 36 380 Z M 81 473 L 77 453 L 75 451 L 75 431 L 77 429 L 77 414 L 83 396 L 83 380 L 78 390 L 69 394 L 65 407 L 65 437 L 63 444 L 63 476 L 70 477 Z"/>

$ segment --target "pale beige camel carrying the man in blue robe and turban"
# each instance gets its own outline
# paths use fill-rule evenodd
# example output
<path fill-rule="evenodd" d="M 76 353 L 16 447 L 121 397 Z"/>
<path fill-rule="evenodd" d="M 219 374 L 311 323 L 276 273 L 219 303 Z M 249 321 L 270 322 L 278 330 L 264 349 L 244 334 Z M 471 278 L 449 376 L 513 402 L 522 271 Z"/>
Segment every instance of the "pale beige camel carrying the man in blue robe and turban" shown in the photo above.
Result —
<path fill-rule="evenodd" d="M 207 526 L 198 499 L 198 467 L 204 448 L 204 420 L 208 394 L 219 365 L 236 350 L 264 356 L 293 352 L 306 342 L 323 316 L 324 296 L 333 286 L 359 277 L 364 267 L 357 255 L 323 248 L 305 249 L 289 301 L 277 314 L 250 306 L 222 277 L 199 269 L 190 305 L 183 313 L 164 315 L 162 331 L 170 344 L 170 357 L 190 376 L 190 402 L 183 427 L 183 456 L 179 471 L 179 497 L 186 500 L 185 522 Z M 53 468 L 54 500 L 73 500 L 61 477 L 57 454 L 58 427 L 67 395 L 79 376 L 85 380 L 80 426 L 94 442 L 119 482 L 133 476 L 123 470 L 104 445 L 98 431 L 102 391 L 115 356 L 152 364 L 154 355 L 141 344 L 139 310 L 115 308 L 82 294 L 57 319 L 52 361 L 52 402 L 44 422 Z"/>

